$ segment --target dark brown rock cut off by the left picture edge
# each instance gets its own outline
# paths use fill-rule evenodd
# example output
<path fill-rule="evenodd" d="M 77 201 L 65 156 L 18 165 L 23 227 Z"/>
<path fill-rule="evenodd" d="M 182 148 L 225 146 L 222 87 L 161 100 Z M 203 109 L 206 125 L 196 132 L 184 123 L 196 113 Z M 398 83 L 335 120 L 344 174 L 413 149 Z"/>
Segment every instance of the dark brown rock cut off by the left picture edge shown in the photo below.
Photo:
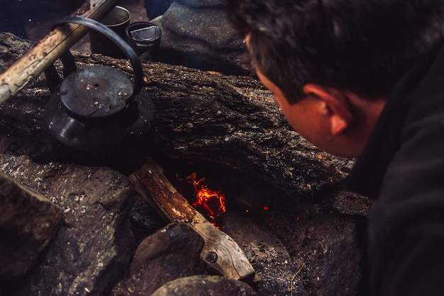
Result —
<path fill-rule="evenodd" d="M 62 217 L 43 195 L 0 172 L 0 278 L 13 279 L 33 267 Z"/>

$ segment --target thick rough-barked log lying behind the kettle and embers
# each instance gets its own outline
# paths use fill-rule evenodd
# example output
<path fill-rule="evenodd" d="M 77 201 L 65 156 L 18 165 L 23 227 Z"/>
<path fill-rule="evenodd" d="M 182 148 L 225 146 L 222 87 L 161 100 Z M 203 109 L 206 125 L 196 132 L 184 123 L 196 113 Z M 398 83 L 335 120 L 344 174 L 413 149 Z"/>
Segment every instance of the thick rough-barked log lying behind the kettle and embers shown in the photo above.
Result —
<path fill-rule="evenodd" d="M 0 34 L 0 73 L 32 46 L 9 33 Z M 79 68 L 101 64 L 132 75 L 126 59 L 80 52 L 74 57 Z M 62 65 L 55 64 L 61 73 Z M 143 72 L 145 90 L 155 102 L 152 147 L 172 158 L 220 164 L 295 196 L 313 195 L 337 183 L 353 164 L 302 139 L 289 127 L 272 93 L 252 76 L 153 62 L 143 62 Z M 0 106 L 0 134 L 9 143 L 1 151 L 34 157 L 48 149 L 43 110 L 49 97 L 48 84 L 40 75 Z"/>

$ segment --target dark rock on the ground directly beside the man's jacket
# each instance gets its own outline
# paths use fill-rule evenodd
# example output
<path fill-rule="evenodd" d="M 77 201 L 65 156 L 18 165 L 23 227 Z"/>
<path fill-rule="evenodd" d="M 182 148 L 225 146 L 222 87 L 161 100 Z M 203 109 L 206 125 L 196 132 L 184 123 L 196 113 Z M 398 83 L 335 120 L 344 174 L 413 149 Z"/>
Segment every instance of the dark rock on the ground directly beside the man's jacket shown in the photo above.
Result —
<path fill-rule="evenodd" d="M 282 205 L 272 216 L 267 224 L 292 250 L 309 295 L 367 295 L 361 290 L 365 217 L 338 215 L 329 205 L 304 202 Z"/>

